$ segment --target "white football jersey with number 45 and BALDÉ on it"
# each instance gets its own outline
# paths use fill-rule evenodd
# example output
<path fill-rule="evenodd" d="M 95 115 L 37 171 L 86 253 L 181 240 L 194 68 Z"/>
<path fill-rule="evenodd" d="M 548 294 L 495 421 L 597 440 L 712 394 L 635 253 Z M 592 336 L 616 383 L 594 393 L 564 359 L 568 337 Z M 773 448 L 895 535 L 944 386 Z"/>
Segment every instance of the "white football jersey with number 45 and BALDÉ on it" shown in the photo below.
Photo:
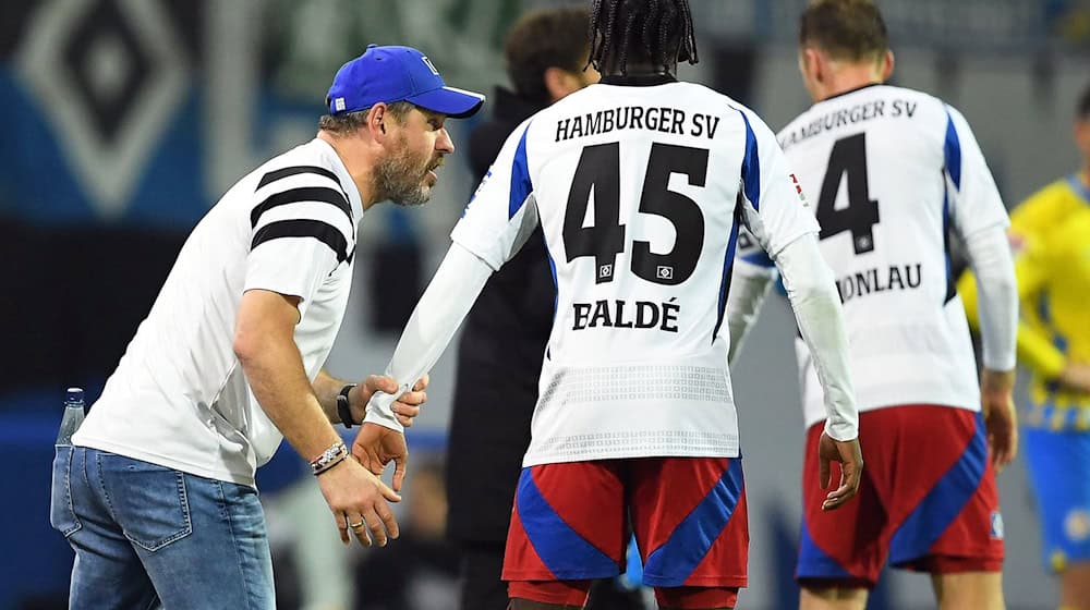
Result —
<path fill-rule="evenodd" d="M 774 134 L 712 89 L 606 80 L 508 138 L 451 237 L 498 269 L 541 223 L 557 286 L 524 465 L 738 455 L 724 307 L 739 221 L 818 225 Z"/>

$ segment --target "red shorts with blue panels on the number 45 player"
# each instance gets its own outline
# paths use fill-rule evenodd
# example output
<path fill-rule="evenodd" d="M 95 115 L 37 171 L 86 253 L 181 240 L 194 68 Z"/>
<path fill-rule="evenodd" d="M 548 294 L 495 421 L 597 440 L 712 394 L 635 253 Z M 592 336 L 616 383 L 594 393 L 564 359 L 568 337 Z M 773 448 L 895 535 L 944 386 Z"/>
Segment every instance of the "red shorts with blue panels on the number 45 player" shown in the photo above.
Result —
<path fill-rule="evenodd" d="M 621 571 L 631 523 L 643 582 L 671 608 L 732 608 L 749 532 L 741 460 L 641 457 L 522 469 L 504 558 L 512 598 L 581 606 Z"/>

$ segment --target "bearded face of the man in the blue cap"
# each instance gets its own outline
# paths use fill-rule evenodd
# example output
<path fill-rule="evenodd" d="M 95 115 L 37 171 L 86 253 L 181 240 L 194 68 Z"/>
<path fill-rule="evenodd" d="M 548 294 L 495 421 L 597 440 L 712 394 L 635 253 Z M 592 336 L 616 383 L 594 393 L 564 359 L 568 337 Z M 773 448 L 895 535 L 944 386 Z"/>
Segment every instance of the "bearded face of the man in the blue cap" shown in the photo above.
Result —
<path fill-rule="evenodd" d="M 431 198 L 444 156 L 455 151 L 445 121 L 445 114 L 413 108 L 402 122 L 386 122 L 386 155 L 376 172 L 379 199 L 420 206 Z"/>

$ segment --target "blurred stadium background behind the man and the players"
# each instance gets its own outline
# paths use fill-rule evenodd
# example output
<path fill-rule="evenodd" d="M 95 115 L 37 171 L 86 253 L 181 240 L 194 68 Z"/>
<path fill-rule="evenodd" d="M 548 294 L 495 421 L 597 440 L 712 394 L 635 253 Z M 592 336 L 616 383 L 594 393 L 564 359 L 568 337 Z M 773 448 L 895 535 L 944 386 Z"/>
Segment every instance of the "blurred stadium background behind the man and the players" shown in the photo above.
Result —
<path fill-rule="evenodd" d="M 702 61 L 682 68 L 683 78 L 750 105 L 774 129 L 808 107 L 794 46 L 802 0 L 690 1 Z M 558 3 L 0 3 L 0 609 L 63 599 L 71 552 L 48 525 L 63 389 L 98 394 L 208 206 L 259 162 L 313 136 L 332 73 L 367 42 L 419 47 L 448 83 L 491 91 L 506 82 L 507 27 L 525 9 Z M 1090 3 L 879 3 L 897 53 L 896 83 L 961 109 L 1008 206 L 1076 167 L 1069 126 L 1074 100 L 1090 82 Z M 457 145 L 476 120 L 453 123 Z M 474 186 L 464 160 L 456 154 L 451 161 L 426 208 L 382 206 L 367 215 L 359 278 L 328 363 L 334 373 L 360 377 L 385 367 L 412 294 L 437 265 Z M 803 435 L 789 316 L 783 300 L 772 300 L 735 370 L 753 509 L 743 608 L 789 608 L 797 596 L 790 573 Z M 433 370 L 431 400 L 410 437 L 417 461 L 441 455 L 451 353 Z M 292 493 L 301 472 L 290 450 L 281 452 L 265 497 Z M 306 496 L 314 486 L 301 480 Z M 1022 464 L 1004 473 L 1000 487 L 1009 606 L 1054 608 Z M 274 538 L 291 539 L 300 523 L 304 538 L 335 536 L 323 510 L 299 518 L 274 509 Z M 871 608 L 927 607 L 930 595 L 924 577 L 898 574 Z"/>

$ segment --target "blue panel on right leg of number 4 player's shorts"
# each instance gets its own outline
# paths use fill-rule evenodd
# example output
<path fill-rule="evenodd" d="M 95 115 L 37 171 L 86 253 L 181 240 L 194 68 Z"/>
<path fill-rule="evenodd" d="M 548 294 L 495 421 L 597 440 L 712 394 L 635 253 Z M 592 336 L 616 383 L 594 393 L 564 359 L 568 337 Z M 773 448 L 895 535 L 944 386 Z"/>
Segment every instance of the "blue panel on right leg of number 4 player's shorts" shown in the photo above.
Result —
<path fill-rule="evenodd" d="M 889 563 L 897 565 L 924 557 L 977 492 L 988 465 L 984 419 L 977 414 L 977 432 L 961 457 L 946 472 L 889 541 Z"/>

